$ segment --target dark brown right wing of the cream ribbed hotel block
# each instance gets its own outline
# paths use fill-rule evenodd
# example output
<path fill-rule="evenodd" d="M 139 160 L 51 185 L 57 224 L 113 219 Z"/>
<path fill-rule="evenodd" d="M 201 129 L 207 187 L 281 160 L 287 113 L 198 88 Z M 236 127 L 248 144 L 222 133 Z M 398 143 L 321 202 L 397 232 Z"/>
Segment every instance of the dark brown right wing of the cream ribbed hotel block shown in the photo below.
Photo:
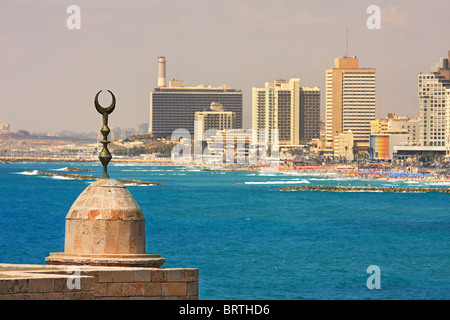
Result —
<path fill-rule="evenodd" d="M 320 137 L 320 88 L 300 87 L 300 143 Z"/>

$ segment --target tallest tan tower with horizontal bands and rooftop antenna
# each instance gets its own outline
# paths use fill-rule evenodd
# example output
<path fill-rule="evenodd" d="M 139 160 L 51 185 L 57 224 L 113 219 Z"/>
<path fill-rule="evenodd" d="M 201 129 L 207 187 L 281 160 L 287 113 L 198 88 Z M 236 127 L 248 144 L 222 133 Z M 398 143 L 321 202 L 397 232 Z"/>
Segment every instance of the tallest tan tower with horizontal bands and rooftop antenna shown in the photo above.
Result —
<path fill-rule="evenodd" d="M 358 58 L 334 59 L 326 70 L 326 141 L 351 130 L 358 146 L 368 147 L 370 122 L 375 120 L 375 69 L 359 68 Z"/>

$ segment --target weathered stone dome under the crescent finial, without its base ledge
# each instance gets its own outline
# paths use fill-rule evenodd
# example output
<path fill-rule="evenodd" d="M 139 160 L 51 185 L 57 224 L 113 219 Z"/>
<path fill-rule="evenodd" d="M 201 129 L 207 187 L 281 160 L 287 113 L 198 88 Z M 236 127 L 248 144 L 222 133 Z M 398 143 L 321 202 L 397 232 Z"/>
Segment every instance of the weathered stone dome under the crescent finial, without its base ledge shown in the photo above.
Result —
<path fill-rule="evenodd" d="M 98 179 L 77 198 L 66 216 L 65 252 L 145 253 L 145 220 L 128 189 Z"/>

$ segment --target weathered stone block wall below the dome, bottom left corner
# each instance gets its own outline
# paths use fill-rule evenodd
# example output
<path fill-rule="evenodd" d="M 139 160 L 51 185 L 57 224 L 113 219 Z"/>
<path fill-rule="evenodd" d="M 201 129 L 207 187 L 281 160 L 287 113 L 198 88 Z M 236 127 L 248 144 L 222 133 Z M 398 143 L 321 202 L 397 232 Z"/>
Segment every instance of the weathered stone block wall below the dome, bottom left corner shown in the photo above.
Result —
<path fill-rule="evenodd" d="M 197 300 L 198 269 L 0 264 L 0 300 Z"/>

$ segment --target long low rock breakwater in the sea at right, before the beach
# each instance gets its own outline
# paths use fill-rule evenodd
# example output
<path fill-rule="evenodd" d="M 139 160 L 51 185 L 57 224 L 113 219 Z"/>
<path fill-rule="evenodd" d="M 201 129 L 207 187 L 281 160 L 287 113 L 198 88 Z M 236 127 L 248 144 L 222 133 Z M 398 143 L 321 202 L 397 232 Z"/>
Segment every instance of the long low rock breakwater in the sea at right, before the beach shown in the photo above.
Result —
<path fill-rule="evenodd" d="M 277 191 L 330 191 L 330 192 L 442 192 L 450 193 L 450 188 L 400 188 L 400 187 L 360 187 L 360 186 L 292 186 L 276 189 Z"/>

